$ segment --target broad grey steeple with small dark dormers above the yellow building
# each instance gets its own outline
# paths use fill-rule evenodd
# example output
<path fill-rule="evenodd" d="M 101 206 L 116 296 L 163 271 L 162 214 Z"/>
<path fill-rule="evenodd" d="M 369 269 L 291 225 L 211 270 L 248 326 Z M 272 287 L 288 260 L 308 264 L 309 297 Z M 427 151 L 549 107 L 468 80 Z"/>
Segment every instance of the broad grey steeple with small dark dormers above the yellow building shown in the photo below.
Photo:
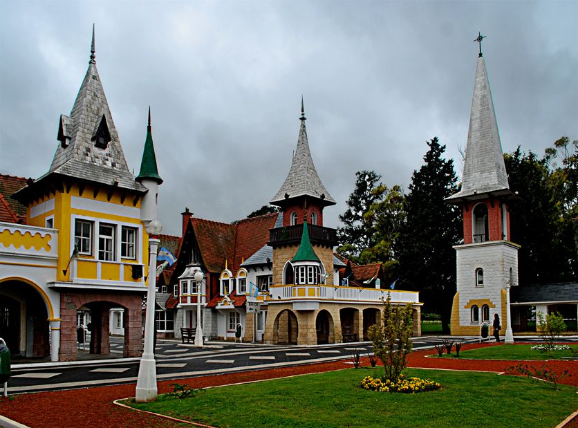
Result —
<path fill-rule="evenodd" d="M 93 25 L 88 70 L 70 116 L 59 121 L 57 147 L 48 174 L 91 180 L 105 185 L 145 192 L 129 171 L 127 160 L 106 101 L 95 61 Z"/>

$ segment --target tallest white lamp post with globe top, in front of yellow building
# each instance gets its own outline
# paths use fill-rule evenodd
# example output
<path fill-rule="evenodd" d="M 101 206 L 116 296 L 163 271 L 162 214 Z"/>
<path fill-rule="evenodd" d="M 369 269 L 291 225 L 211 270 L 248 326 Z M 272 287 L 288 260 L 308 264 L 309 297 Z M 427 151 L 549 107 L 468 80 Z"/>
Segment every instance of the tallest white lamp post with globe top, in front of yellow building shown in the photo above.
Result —
<path fill-rule="evenodd" d="M 145 317 L 145 351 L 140 359 L 138 380 L 136 382 L 137 402 L 156 400 L 156 364 L 154 355 L 155 291 L 156 291 L 156 254 L 160 239 L 158 235 L 162 224 L 153 220 L 147 227 L 149 232 L 149 288 L 147 290 L 147 315 Z"/>

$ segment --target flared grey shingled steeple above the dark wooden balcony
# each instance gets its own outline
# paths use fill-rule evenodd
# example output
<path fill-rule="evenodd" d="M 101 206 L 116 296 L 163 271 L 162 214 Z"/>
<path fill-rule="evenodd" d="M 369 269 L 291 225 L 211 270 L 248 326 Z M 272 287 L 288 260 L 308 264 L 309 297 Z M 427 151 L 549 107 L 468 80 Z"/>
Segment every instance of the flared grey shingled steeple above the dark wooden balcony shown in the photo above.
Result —
<path fill-rule="evenodd" d="M 335 205 L 335 200 L 331 197 L 327 189 L 321 183 L 321 178 L 317 174 L 307 140 L 307 129 L 305 127 L 305 109 L 303 98 L 301 97 L 301 127 L 299 129 L 299 139 L 297 149 L 292 159 L 289 174 L 279 192 L 272 198 L 272 205 L 280 205 L 288 198 L 297 196 L 312 196 L 317 198 L 323 205 Z"/>

